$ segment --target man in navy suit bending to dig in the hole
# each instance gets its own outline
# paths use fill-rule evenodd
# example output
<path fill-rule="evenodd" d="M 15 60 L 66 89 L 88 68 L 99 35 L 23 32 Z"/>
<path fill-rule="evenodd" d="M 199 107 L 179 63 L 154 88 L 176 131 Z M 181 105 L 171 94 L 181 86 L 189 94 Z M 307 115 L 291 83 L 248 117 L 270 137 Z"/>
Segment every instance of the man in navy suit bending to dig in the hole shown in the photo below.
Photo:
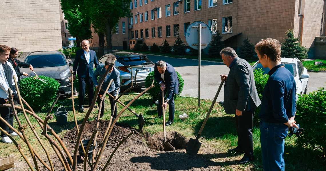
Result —
<path fill-rule="evenodd" d="M 155 63 L 154 79 L 161 85 L 158 104 L 162 104 L 162 92 L 164 92 L 164 95 L 166 95 L 166 102 L 163 103 L 162 107 L 165 109 L 169 103 L 169 121 L 165 123 L 165 125 L 168 126 L 173 123 L 174 119 L 174 95 L 179 94 L 178 75 L 170 64 L 160 60 Z M 163 109 L 161 107 L 157 107 L 157 111 L 158 117 L 162 117 Z"/>

